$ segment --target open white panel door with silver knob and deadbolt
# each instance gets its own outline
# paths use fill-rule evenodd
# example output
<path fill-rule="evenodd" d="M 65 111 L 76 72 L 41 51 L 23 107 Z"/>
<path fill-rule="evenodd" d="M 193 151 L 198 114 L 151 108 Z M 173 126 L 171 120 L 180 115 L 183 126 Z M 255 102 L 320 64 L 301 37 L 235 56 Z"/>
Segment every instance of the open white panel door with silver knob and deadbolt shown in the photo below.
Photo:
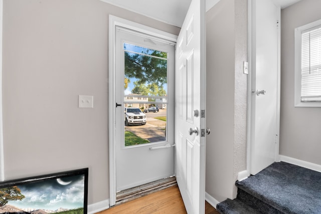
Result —
<path fill-rule="evenodd" d="M 205 0 L 192 0 L 176 50 L 176 178 L 188 213 L 205 212 Z"/>

